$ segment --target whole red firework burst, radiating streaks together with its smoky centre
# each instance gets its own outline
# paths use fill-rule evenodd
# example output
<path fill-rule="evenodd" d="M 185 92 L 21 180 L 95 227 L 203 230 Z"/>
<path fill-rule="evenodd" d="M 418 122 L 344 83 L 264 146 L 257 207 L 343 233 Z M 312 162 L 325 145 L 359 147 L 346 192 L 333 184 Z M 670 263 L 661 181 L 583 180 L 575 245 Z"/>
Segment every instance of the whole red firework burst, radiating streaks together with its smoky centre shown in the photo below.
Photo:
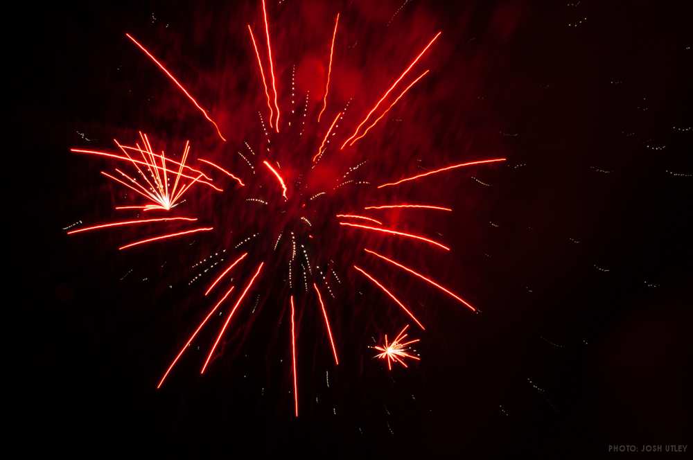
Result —
<path fill-rule="evenodd" d="M 139 139 L 134 145 L 123 145 L 115 141 L 118 148 L 115 152 L 103 150 L 90 150 L 85 148 L 73 148 L 72 152 L 78 154 L 88 154 L 91 156 L 106 157 L 114 161 L 119 161 L 130 170 L 125 172 L 121 168 L 115 168 L 112 172 L 103 171 L 102 174 L 134 193 L 139 203 L 119 204 L 116 210 L 136 211 L 148 213 L 167 213 L 167 217 L 137 218 L 103 224 L 94 224 L 89 227 L 82 227 L 69 231 L 69 234 L 82 233 L 86 231 L 119 229 L 123 226 L 145 228 L 148 226 L 164 225 L 166 233 L 161 230 L 152 233 L 143 233 L 143 239 L 128 242 L 119 249 L 128 249 L 149 245 L 152 242 L 170 240 L 173 238 L 183 238 L 188 235 L 208 232 L 206 237 L 213 238 L 218 236 L 220 231 L 228 232 L 225 227 L 227 223 L 218 215 L 213 215 L 209 220 L 213 224 L 199 227 L 171 228 L 172 225 L 188 224 L 188 222 L 198 222 L 200 217 L 170 217 L 168 213 L 177 211 L 179 207 L 188 207 L 188 213 L 195 213 L 195 206 L 183 206 L 184 197 L 191 193 L 206 195 L 213 193 L 215 196 L 227 197 L 234 203 L 233 210 L 242 209 L 240 217 L 234 225 L 241 231 L 249 232 L 250 236 L 245 238 L 237 246 L 253 240 L 252 245 L 243 253 L 238 252 L 233 262 L 223 267 L 218 276 L 209 283 L 204 290 L 204 296 L 210 296 L 213 292 L 220 292 L 218 299 L 211 301 L 213 306 L 204 313 L 201 321 L 194 331 L 184 341 L 182 348 L 179 349 L 173 360 L 170 362 L 163 375 L 157 383 L 160 388 L 167 378 L 170 377 L 173 369 L 179 360 L 182 359 L 186 350 L 198 338 L 198 335 L 209 324 L 211 317 L 215 313 L 221 314 L 224 309 L 225 320 L 216 333 L 216 339 L 209 347 L 207 357 L 202 363 L 200 373 L 204 373 L 217 356 L 216 352 L 220 344 L 225 339 L 225 334 L 234 321 L 234 314 L 243 308 L 243 302 L 249 292 L 260 290 L 259 286 L 269 286 L 270 281 L 274 280 L 273 288 L 286 295 L 286 305 L 290 306 L 290 349 L 292 357 L 292 380 L 293 394 L 295 399 L 295 415 L 299 413 L 299 378 L 297 376 L 297 357 L 299 346 L 297 337 L 300 330 L 300 317 L 297 310 L 312 311 L 319 317 L 324 324 L 326 333 L 326 348 L 333 355 L 334 364 L 340 364 L 340 350 L 338 330 L 331 326 L 331 319 L 338 315 L 339 310 L 334 302 L 328 301 L 329 298 L 324 294 L 329 293 L 331 299 L 337 297 L 333 294 L 333 283 L 340 283 L 335 272 L 335 265 L 342 269 L 353 270 L 353 274 L 361 277 L 362 280 L 371 283 L 384 294 L 383 299 L 389 299 L 393 305 L 401 310 L 405 319 L 410 319 L 416 326 L 424 330 L 424 326 L 417 319 L 412 308 L 406 305 L 405 300 L 398 297 L 397 287 L 386 285 L 380 274 L 374 274 L 374 269 L 370 265 L 362 268 L 356 265 L 356 260 L 340 254 L 334 248 L 346 247 L 353 242 L 353 236 L 363 238 L 378 238 L 378 240 L 400 240 L 405 244 L 420 249 L 430 249 L 447 254 L 451 248 L 444 242 L 433 239 L 431 236 L 420 234 L 418 231 L 398 226 L 389 218 L 388 212 L 391 210 L 403 212 L 450 212 L 453 211 L 444 204 L 422 204 L 401 202 L 360 202 L 362 197 L 369 197 L 367 191 L 375 192 L 380 188 L 396 187 L 405 182 L 423 181 L 431 175 L 443 174 L 445 172 L 472 166 L 492 165 L 505 161 L 505 158 L 477 159 L 453 165 L 441 165 L 440 168 L 419 175 L 412 175 L 396 182 L 391 177 L 376 177 L 376 181 L 365 180 L 358 177 L 361 166 L 365 162 L 352 166 L 343 175 L 332 175 L 326 171 L 333 170 L 334 165 L 330 163 L 330 157 L 344 156 L 353 154 L 353 146 L 367 136 L 374 134 L 374 128 L 387 114 L 395 107 L 402 98 L 410 91 L 414 91 L 416 83 L 424 76 L 428 75 L 428 69 L 414 73 L 414 67 L 419 62 L 425 60 L 426 54 L 441 37 L 441 32 L 437 32 L 418 50 L 414 51 L 414 57 L 405 66 L 403 71 L 398 74 L 392 84 L 383 92 L 379 100 L 373 105 L 370 111 L 363 117 L 353 129 L 353 133 L 346 136 L 340 131 L 340 123 L 347 115 L 347 106 L 332 107 L 330 103 L 329 91 L 333 71 L 333 58 L 335 51 L 335 41 L 339 37 L 340 15 L 335 16 L 331 41 L 327 37 L 326 42 L 330 43 L 327 57 L 326 81 L 324 82 L 324 94 L 321 98 L 320 107 L 309 112 L 308 104 L 304 107 L 302 114 L 295 114 L 295 101 L 292 87 L 291 110 L 282 115 L 283 103 L 279 90 L 281 81 L 277 78 L 277 60 L 272 52 L 272 39 L 270 34 L 270 23 L 268 21 L 267 8 L 262 1 L 263 24 L 260 28 L 254 28 L 247 24 L 249 34 L 250 56 L 256 61 L 258 69 L 259 89 L 264 92 L 266 99 L 267 122 L 270 130 L 264 125 L 261 115 L 265 141 L 263 148 L 256 153 L 249 144 L 245 143 L 247 154 L 238 152 L 238 156 L 249 166 L 249 170 L 239 172 L 232 170 L 229 166 L 228 158 L 213 162 L 202 157 L 195 157 L 192 162 L 195 167 L 190 166 L 191 143 L 186 142 L 182 153 L 174 159 L 166 155 L 163 150 L 152 148 L 152 143 L 147 134 L 139 133 Z M 256 36 L 256 30 L 261 32 Z M 263 35 L 263 36 L 262 36 Z M 155 57 L 155 51 L 141 44 L 130 34 L 126 37 L 134 43 L 139 51 L 150 60 L 156 67 L 164 72 L 164 75 L 173 83 L 174 89 L 177 88 L 182 94 L 193 103 L 196 109 L 202 113 L 204 118 L 213 126 L 216 135 L 222 142 L 227 140 L 222 135 L 222 130 L 216 121 L 213 120 L 209 112 L 202 108 L 193 97 L 191 92 L 186 89 L 174 73 L 169 70 L 167 64 Z M 265 112 L 265 109 L 262 109 Z M 320 123 L 323 114 L 324 123 Z M 306 128 L 308 120 L 309 127 Z M 358 119 L 358 118 L 356 118 Z M 299 123 L 300 121 L 300 123 Z M 222 126 L 223 127 L 223 126 Z M 308 129 L 306 132 L 305 130 Z M 306 134 L 304 136 L 304 134 Z M 345 136 L 341 143 L 333 140 L 337 137 Z M 312 138 L 308 141 L 306 139 Z M 350 151 L 351 150 L 351 151 Z M 325 166 L 326 165 L 326 166 Z M 124 169 L 123 166 L 123 169 Z M 394 168 L 394 161 L 391 162 Z M 328 177 L 330 180 L 325 180 Z M 223 187 L 223 188 L 222 188 Z M 353 190 L 359 189 L 358 195 Z M 230 196 L 230 198 L 229 198 Z M 391 195 L 392 196 L 392 195 Z M 221 206 L 220 206 L 221 207 Z M 224 206 L 225 211 L 228 209 Z M 363 215 L 365 213 L 365 215 Z M 376 214 L 377 213 L 377 214 Z M 326 250 L 327 247 L 332 250 Z M 374 249 L 362 248 L 358 252 L 359 256 L 365 257 L 364 263 L 374 261 L 385 262 L 385 266 L 393 267 L 395 271 L 402 271 L 406 274 L 418 278 L 420 281 L 446 294 L 465 308 L 476 311 L 476 308 L 468 301 L 464 300 L 452 290 L 444 288 L 441 284 L 434 281 L 430 276 L 421 274 L 414 268 L 407 267 L 396 260 L 397 255 L 385 255 Z M 372 256 L 372 257 L 371 257 Z M 335 263 L 334 260 L 337 259 Z M 240 276 L 241 282 L 231 284 L 229 273 L 234 272 Z M 278 283 L 287 274 L 286 285 Z M 302 278 L 302 282 L 299 279 Z M 356 276 L 354 276 L 356 278 Z M 229 281 L 230 280 L 230 281 Z M 312 286 L 312 289 L 310 287 Z M 303 291 L 301 293 L 301 290 Z M 234 299 L 235 297 L 235 299 Z M 332 305 L 331 305 L 332 303 Z M 317 307 L 313 307 L 317 306 Z M 286 306 L 279 306 L 284 310 Z M 312 310 L 309 310 L 312 308 Z M 419 360 L 419 357 L 407 353 L 408 346 L 416 340 L 404 342 L 405 330 L 408 325 L 401 330 L 393 342 L 387 342 L 385 335 L 384 346 L 376 346 L 381 353 L 377 355 L 387 360 L 388 367 L 392 369 L 392 362 L 398 362 L 406 366 L 404 360 Z"/>

